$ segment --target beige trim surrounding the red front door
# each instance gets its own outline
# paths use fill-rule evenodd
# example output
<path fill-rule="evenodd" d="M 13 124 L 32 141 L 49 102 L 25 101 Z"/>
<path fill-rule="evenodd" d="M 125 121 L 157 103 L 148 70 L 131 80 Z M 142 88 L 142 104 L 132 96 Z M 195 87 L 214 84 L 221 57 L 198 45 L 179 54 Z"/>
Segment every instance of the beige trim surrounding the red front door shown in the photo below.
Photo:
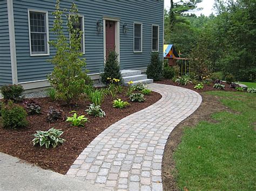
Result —
<path fill-rule="evenodd" d="M 114 17 L 103 17 L 103 59 L 106 61 L 106 20 L 114 21 L 114 45 L 118 54 L 118 62 L 120 63 L 120 19 Z"/>

